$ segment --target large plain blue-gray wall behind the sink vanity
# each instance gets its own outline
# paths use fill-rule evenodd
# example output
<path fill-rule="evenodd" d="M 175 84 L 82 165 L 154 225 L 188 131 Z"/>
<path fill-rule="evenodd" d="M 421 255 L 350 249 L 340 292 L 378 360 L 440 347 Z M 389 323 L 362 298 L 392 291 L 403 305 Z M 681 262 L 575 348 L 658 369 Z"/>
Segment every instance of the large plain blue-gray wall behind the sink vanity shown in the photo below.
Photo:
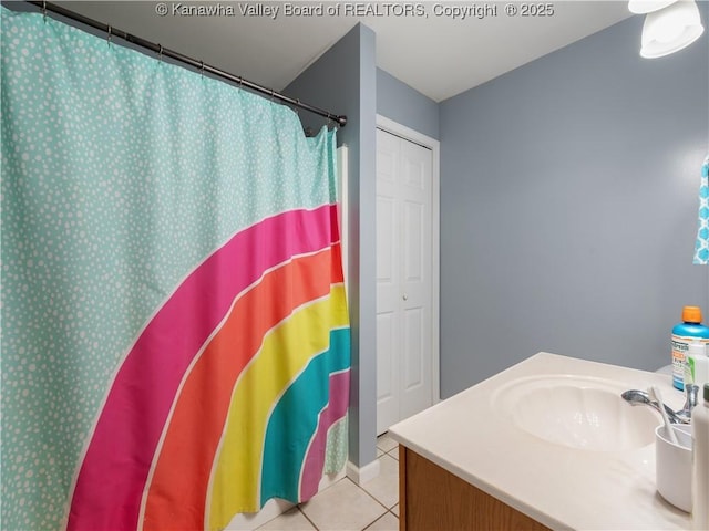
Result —
<path fill-rule="evenodd" d="M 641 25 L 441 104 L 444 397 L 538 351 L 655 369 L 682 305 L 709 316 L 691 264 L 707 33 L 644 60 Z"/>

